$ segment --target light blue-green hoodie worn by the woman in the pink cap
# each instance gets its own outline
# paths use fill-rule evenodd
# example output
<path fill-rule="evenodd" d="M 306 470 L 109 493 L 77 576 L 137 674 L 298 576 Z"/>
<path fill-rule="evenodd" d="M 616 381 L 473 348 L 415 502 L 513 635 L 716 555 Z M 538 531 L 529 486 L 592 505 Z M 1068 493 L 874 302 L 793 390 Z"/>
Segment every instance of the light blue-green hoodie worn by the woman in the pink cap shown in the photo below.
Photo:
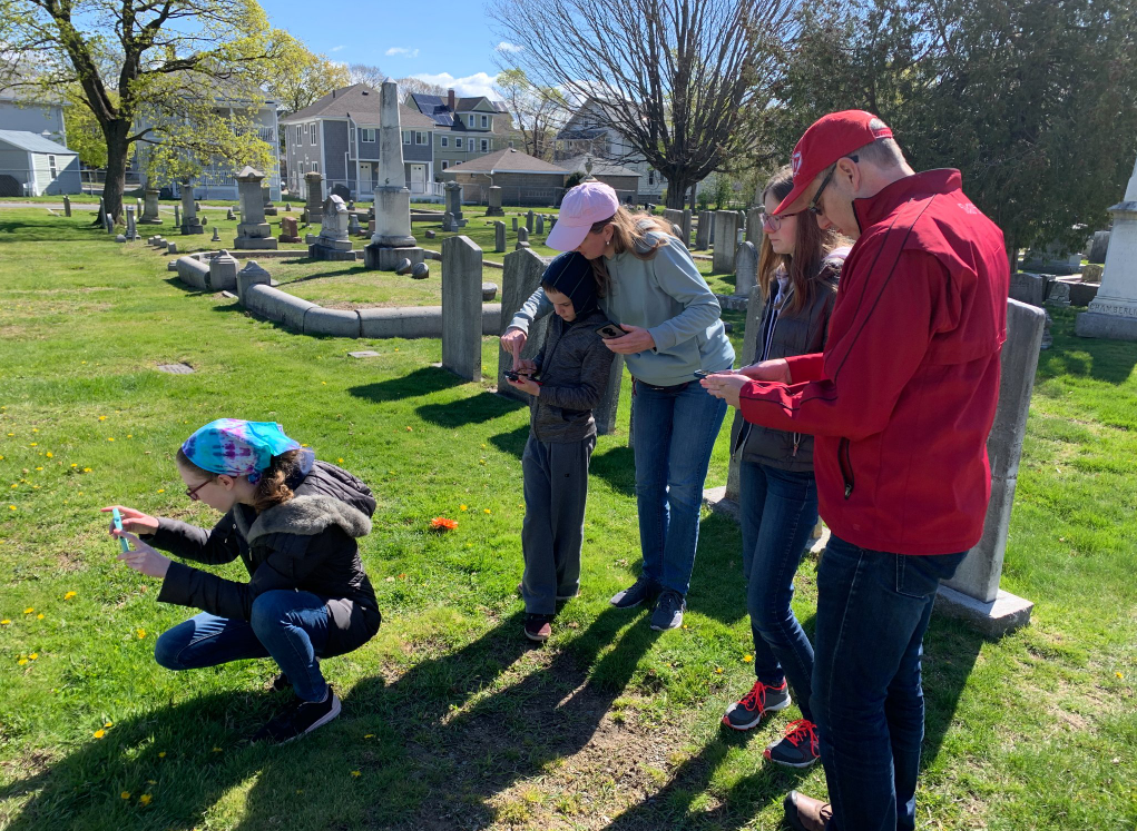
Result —
<path fill-rule="evenodd" d="M 650 232 L 647 238 L 666 240 L 649 260 L 631 252 L 605 258 L 612 289 L 600 308 L 614 324 L 639 326 L 652 333 L 655 349 L 624 355 L 633 378 L 653 386 L 674 386 L 695 379 L 696 370 L 719 372 L 735 363 L 735 349 L 722 325 L 719 300 L 683 244 L 673 236 Z M 529 334 L 529 325 L 553 311 L 538 288 L 509 321 Z"/>

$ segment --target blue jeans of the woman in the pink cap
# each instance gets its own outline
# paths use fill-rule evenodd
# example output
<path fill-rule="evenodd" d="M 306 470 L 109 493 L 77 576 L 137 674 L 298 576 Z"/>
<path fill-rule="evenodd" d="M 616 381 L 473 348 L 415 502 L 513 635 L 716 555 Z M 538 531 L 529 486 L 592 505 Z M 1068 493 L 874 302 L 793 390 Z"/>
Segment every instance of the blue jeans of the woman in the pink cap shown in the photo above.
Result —
<path fill-rule="evenodd" d="M 703 482 L 727 402 L 698 381 L 671 392 L 636 381 L 632 389 L 644 576 L 686 595 L 699 542 Z"/>

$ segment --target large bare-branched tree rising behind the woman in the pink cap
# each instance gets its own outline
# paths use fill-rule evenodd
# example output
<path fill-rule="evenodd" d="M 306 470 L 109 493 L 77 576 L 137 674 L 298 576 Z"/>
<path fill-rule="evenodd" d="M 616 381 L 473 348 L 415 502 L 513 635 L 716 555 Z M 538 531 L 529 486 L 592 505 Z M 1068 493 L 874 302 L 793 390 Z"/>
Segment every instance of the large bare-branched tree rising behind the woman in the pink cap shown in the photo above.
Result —
<path fill-rule="evenodd" d="M 667 179 L 667 205 L 760 138 L 794 0 L 490 0 L 511 62 L 594 99 Z M 630 161 L 631 159 L 624 159 Z"/>

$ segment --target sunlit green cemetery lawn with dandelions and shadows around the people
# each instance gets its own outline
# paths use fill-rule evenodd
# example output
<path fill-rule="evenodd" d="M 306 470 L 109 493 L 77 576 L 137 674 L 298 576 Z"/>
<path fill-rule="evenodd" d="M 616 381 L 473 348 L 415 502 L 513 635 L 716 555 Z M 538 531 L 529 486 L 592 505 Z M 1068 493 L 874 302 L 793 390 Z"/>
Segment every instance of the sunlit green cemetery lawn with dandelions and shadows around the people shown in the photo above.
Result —
<path fill-rule="evenodd" d="M 0 211 L 0 826 L 775 829 L 786 790 L 824 794 L 820 766 L 762 759 L 786 714 L 719 724 L 753 681 L 733 524 L 704 518 L 682 629 L 607 604 L 639 564 L 626 378 L 592 460 L 583 594 L 532 647 L 514 591 L 528 411 L 490 391 L 495 338 L 488 377 L 464 384 L 431 367 L 438 341 L 290 334 L 88 221 Z M 1053 313 L 1003 576 L 1037 605 L 1001 640 L 933 616 L 921 828 L 1137 823 L 1137 346 Z M 177 361 L 194 372 L 156 370 Z M 155 602 L 98 513 L 214 522 L 173 454 L 222 416 L 283 422 L 379 502 L 362 556 L 383 626 L 324 663 L 340 719 L 282 747 L 248 744 L 287 700 L 265 690 L 271 662 L 153 663 L 193 611 Z M 432 532 L 435 517 L 458 526 Z M 811 632 L 815 577 L 810 556 Z"/>

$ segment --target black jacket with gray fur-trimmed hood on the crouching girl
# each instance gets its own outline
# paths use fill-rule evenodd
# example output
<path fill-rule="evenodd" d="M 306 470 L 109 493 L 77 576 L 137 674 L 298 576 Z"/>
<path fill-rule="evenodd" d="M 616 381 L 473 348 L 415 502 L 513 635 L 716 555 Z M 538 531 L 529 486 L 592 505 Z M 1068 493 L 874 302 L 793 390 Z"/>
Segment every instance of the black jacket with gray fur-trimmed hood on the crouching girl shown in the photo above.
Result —
<path fill-rule="evenodd" d="M 248 621 L 265 591 L 310 591 L 325 601 L 332 618 L 322 654 L 351 652 L 379 631 L 381 618 L 356 542 L 371 532 L 375 498 L 359 479 L 326 462 L 315 462 L 288 484 L 293 498 L 259 514 L 233 505 L 211 531 L 159 519 L 158 530 L 143 537 L 150 545 L 206 564 L 240 557 L 250 580 L 236 582 L 174 562 L 158 599 Z"/>

